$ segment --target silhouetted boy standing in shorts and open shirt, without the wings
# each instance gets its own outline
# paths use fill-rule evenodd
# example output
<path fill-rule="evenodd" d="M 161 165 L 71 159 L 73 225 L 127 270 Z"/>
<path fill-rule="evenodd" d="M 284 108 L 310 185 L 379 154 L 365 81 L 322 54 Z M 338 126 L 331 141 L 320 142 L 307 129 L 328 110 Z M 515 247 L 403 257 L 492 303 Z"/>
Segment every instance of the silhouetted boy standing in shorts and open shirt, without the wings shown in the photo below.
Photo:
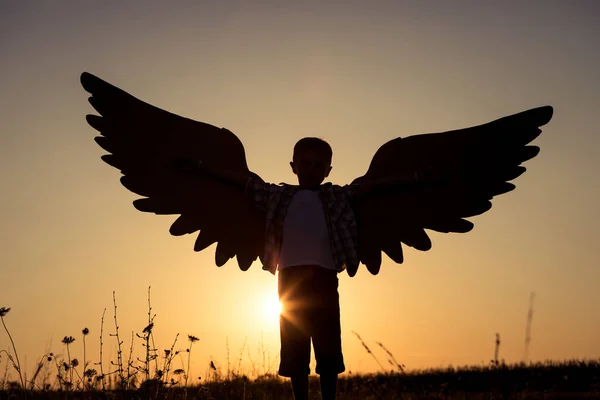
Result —
<path fill-rule="evenodd" d="M 303 138 L 294 146 L 292 171 L 298 186 L 275 185 L 227 171 L 203 170 L 245 186 L 266 211 L 264 269 L 279 271 L 281 362 L 279 375 L 292 381 L 294 398 L 308 399 L 310 342 L 324 400 L 335 399 L 344 372 L 338 272 L 357 265 L 356 220 L 350 206 L 355 185 L 322 185 L 331 171 L 331 146 Z"/>

